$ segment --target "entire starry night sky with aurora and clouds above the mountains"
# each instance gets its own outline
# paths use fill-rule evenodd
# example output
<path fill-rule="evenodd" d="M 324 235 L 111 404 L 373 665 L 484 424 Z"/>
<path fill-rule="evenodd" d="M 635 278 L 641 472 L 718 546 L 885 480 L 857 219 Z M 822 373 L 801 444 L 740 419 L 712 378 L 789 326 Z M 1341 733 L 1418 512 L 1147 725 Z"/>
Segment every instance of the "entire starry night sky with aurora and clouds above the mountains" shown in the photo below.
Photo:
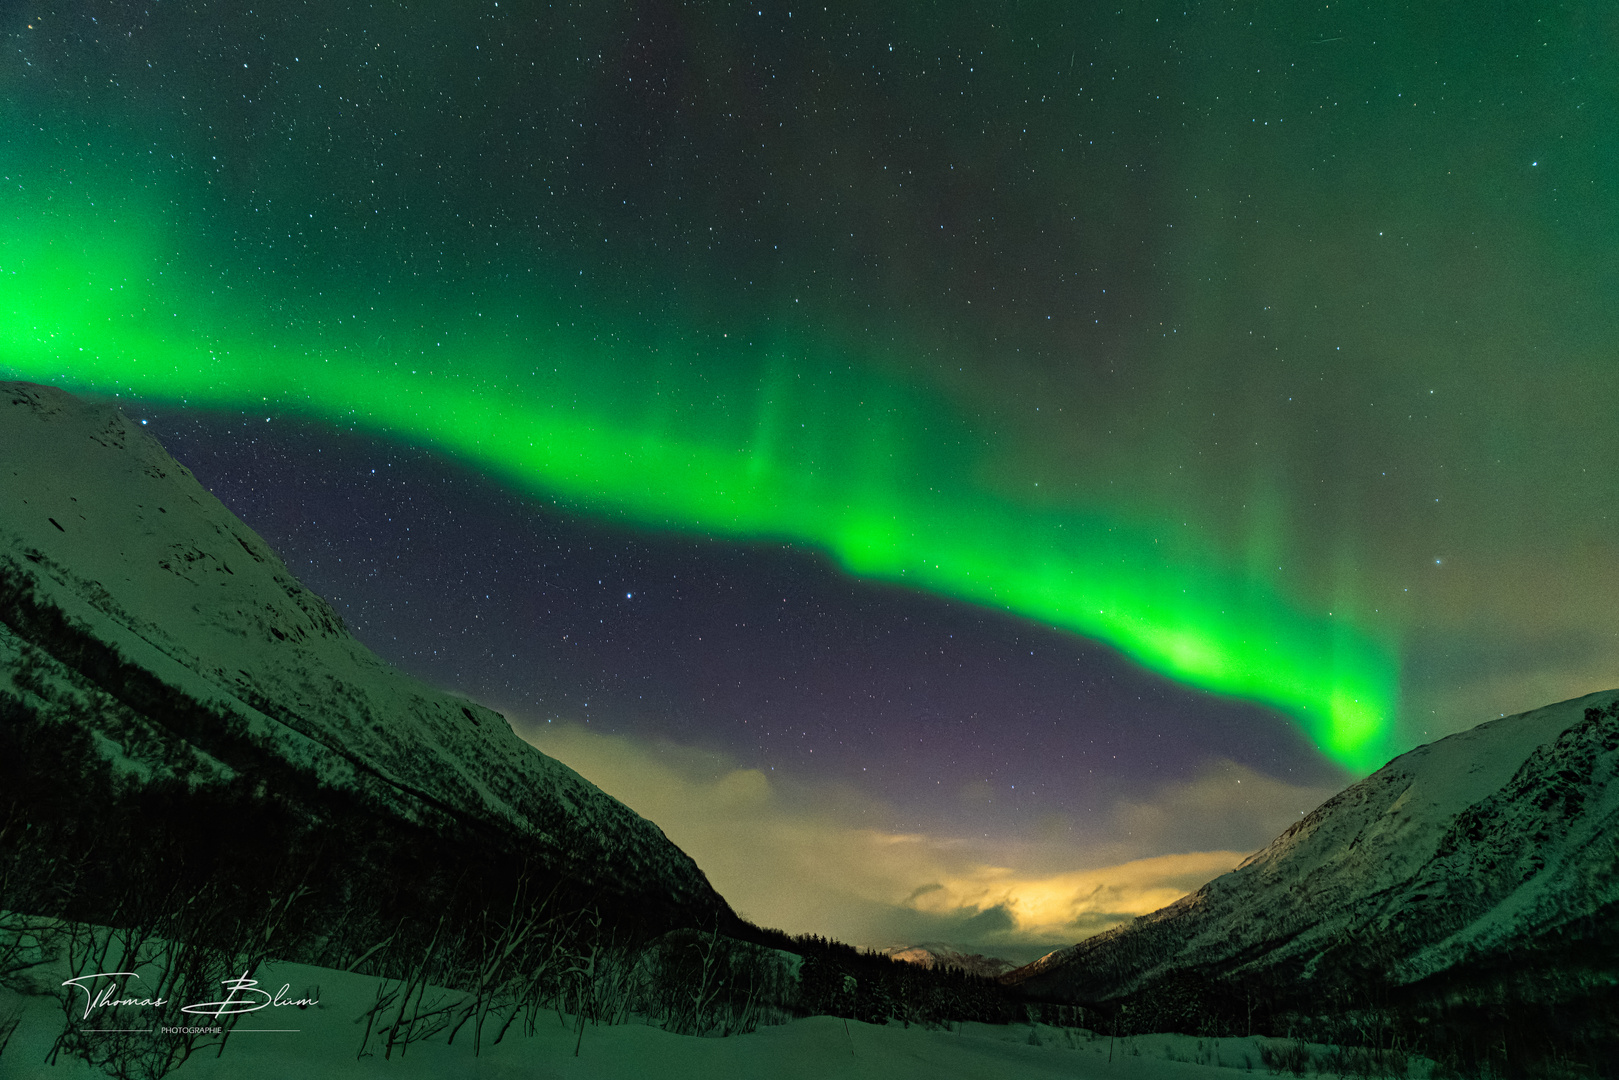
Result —
<path fill-rule="evenodd" d="M 1616 47 L 19 0 L 0 374 L 117 395 L 761 921 L 1064 941 L 1619 683 Z"/>

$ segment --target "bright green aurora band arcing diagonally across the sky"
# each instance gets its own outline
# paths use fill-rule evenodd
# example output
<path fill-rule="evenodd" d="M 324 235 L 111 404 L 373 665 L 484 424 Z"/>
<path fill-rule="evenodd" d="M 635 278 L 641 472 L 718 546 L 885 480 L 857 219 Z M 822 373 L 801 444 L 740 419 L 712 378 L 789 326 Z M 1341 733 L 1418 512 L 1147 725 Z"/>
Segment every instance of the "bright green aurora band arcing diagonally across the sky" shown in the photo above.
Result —
<path fill-rule="evenodd" d="M 6 377 L 364 426 L 583 512 L 788 541 L 855 575 L 1099 638 L 1285 711 L 1349 769 L 1392 750 L 1399 670 L 1370 628 L 1305 612 L 1169 521 L 991 492 L 976 479 L 986 437 L 835 335 L 583 325 L 591 313 L 559 298 L 562 282 L 402 293 L 385 311 L 359 288 L 291 298 L 222 277 L 227 256 L 165 225 L 151 183 L 81 170 L 74 185 L 21 159 L 6 172 Z M 300 317 L 270 314 L 288 308 Z"/>

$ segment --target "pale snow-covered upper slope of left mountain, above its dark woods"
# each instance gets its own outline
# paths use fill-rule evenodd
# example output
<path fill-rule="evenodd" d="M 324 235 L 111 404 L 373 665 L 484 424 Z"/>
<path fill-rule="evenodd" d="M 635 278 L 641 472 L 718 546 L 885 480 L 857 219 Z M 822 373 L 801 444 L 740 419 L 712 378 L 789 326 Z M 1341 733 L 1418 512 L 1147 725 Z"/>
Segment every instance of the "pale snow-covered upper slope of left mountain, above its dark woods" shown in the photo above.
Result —
<path fill-rule="evenodd" d="M 243 745 L 400 819 L 505 831 L 589 886 L 695 925 L 729 916 L 657 826 L 497 712 L 358 643 L 139 424 L 52 387 L 0 384 L 0 691 L 58 711 L 71 699 L 107 756 L 142 780 L 230 780 L 207 738 L 131 698 L 149 675 Z"/>

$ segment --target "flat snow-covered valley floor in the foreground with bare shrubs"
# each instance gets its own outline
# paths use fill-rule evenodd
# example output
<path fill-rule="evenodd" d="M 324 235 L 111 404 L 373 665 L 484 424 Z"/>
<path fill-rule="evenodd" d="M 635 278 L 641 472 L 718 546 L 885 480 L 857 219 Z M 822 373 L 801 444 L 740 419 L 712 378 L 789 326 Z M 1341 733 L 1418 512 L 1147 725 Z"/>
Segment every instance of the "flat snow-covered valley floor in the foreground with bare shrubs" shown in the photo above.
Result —
<path fill-rule="evenodd" d="M 670 1035 L 646 1023 L 586 1025 L 575 1056 L 572 1017 L 547 1012 L 533 1036 L 516 1027 L 491 1046 L 489 1035 L 474 1057 L 470 1030 L 455 1044 L 444 1035 L 424 1043 L 393 1048 L 384 1057 L 376 1035 L 368 1056 L 359 1056 L 363 1017 L 377 996 L 376 978 L 298 963 L 266 965 L 259 986 L 267 993 L 287 986 L 283 999 L 317 999 L 317 1006 L 274 1006 L 244 1014 L 223 1051 L 199 1046 L 172 1075 L 259 1080 L 270 1077 L 392 1077 L 397 1080 L 546 1078 L 580 1080 L 824 1080 L 827 1077 L 873 1080 L 1035 1080 L 1039 1077 L 1109 1077 L 1117 1080 L 1169 1080 L 1266 1075 L 1261 1046 L 1279 1040 L 1198 1040 L 1185 1035 L 1141 1035 L 1109 1040 L 1085 1030 L 1047 1025 L 962 1023 L 950 1030 L 886 1027 L 808 1017 L 751 1035 L 693 1038 Z M 136 993 L 131 983 L 121 993 Z M 78 994 L 73 1023 L 96 1025 L 84 1017 L 87 997 Z M 0 1054 L 0 1078 L 102 1077 L 89 1064 L 62 1054 L 55 1065 L 45 1057 L 68 1022 L 52 996 L 16 996 L 0 991 L 0 1017 L 21 1009 L 10 1044 Z M 15 1015 L 15 1014 L 13 1014 Z M 144 1036 L 142 1036 L 144 1038 Z M 176 1038 L 151 1035 L 154 1040 Z M 1313 1048 L 1324 1051 L 1324 1048 Z M 1426 1075 L 1426 1062 L 1412 1077 Z"/>

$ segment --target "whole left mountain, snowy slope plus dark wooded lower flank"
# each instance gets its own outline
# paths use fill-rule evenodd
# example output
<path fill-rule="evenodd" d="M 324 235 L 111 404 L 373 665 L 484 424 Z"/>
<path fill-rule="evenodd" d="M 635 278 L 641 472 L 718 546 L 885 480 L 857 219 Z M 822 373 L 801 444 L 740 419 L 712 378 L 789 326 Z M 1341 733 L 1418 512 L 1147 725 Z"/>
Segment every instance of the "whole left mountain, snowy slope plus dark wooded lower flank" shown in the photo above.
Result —
<path fill-rule="evenodd" d="M 0 740 L 0 831 L 21 845 L 0 907 L 107 918 L 130 904 L 112 897 L 207 878 L 382 925 L 526 881 L 648 928 L 735 920 L 657 826 L 377 659 L 139 424 L 16 382 Z"/>

